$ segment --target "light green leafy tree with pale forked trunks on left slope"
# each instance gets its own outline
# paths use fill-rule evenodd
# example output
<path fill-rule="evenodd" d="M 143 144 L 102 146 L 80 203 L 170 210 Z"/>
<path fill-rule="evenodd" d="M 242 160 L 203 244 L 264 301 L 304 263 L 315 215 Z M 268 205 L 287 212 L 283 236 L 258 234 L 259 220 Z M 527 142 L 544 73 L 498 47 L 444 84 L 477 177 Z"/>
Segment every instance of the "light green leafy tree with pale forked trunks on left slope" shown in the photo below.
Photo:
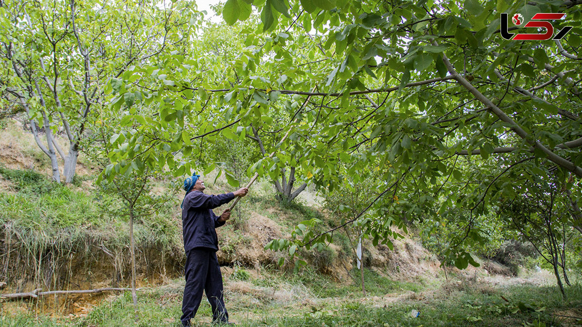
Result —
<path fill-rule="evenodd" d="M 84 131 L 98 121 L 95 111 L 107 106 L 105 84 L 129 77 L 135 63 L 157 60 L 197 22 L 186 3 L 174 10 L 157 2 L 0 3 L 2 95 L 26 111 L 38 147 L 51 158 L 54 180 L 61 181 L 58 153 L 65 182 L 72 182 Z M 54 140 L 59 130 L 68 137 L 68 153 Z"/>

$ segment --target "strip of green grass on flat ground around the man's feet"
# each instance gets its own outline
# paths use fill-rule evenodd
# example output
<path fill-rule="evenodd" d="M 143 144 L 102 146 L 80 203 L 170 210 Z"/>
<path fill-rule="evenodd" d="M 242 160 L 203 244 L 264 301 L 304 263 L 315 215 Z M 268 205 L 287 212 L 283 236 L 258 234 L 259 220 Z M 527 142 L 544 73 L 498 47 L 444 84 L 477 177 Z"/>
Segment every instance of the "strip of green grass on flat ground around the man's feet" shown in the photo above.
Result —
<path fill-rule="evenodd" d="M 265 276 L 263 279 L 270 279 Z M 286 279 L 297 286 L 299 279 Z M 266 284 L 267 280 L 253 283 Z M 384 282 L 389 285 L 388 282 Z M 174 283 L 139 293 L 140 320 L 134 322 L 129 292 L 98 305 L 87 317 L 54 319 L 2 312 L 0 325 L 20 326 L 176 326 L 181 315 L 182 286 Z M 300 286 L 300 284 L 299 284 Z M 334 283 L 330 289 L 338 287 Z M 342 286 L 339 286 L 341 289 Z M 582 288 L 567 289 L 563 300 L 555 287 L 510 286 L 493 289 L 479 285 L 455 289 L 443 286 L 434 292 L 417 293 L 414 297 L 379 302 L 375 297 L 361 299 L 325 297 L 332 292 L 309 298 L 296 298 L 288 303 L 274 300 L 244 301 L 248 294 L 226 294 L 230 317 L 239 326 L 562 326 L 562 310 L 582 312 Z M 505 298 L 506 300 L 504 300 Z M 420 312 L 417 318 L 412 310 Z M 210 325 L 210 304 L 203 300 L 195 321 L 198 326 Z"/>

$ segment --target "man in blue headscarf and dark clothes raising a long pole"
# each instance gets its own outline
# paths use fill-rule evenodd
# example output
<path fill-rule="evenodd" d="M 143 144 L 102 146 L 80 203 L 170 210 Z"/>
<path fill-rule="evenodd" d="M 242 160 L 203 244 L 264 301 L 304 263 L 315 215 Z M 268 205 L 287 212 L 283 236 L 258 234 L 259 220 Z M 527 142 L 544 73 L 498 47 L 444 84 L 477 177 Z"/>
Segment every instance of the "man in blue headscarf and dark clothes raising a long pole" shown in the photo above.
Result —
<path fill-rule="evenodd" d="M 202 300 L 202 291 L 212 307 L 212 321 L 228 324 L 228 312 L 224 305 L 222 274 L 218 265 L 218 237 L 215 228 L 230 219 L 230 210 L 220 216 L 212 209 L 230 202 L 235 197 L 244 197 L 249 189 L 242 187 L 231 193 L 209 196 L 204 194 L 204 182 L 200 175 L 184 180 L 186 196 L 182 201 L 182 232 L 186 251 L 186 286 L 182 301 L 182 326 L 190 326 Z"/>

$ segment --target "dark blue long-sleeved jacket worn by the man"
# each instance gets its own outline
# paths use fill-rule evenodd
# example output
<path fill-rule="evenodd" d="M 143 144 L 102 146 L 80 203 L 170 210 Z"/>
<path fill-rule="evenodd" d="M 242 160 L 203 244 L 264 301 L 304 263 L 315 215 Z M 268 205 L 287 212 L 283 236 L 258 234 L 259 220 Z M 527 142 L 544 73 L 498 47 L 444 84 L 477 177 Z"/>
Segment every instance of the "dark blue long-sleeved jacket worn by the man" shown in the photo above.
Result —
<path fill-rule="evenodd" d="M 182 209 L 182 232 L 184 250 L 187 252 L 195 247 L 212 248 L 218 251 L 218 237 L 215 228 L 224 225 L 218 222 L 218 216 L 212 209 L 230 202 L 234 193 L 209 196 L 201 191 L 190 191 L 184 198 Z"/>

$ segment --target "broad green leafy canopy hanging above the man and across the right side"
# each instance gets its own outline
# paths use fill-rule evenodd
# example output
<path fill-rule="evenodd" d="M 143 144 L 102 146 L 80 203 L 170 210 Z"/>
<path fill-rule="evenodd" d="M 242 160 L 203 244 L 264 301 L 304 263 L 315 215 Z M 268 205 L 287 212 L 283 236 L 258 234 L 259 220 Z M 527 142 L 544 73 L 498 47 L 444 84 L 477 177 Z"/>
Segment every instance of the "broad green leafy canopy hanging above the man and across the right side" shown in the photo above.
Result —
<path fill-rule="evenodd" d="M 65 16 L 80 10 L 74 3 Z M 361 211 L 338 228 L 356 222 L 375 243 L 398 236 L 391 226 L 404 229 L 406 221 L 454 219 L 460 228 L 447 255 L 460 268 L 476 264 L 463 244 L 483 239 L 478 219 L 523 199 L 536 184 L 568 192 L 560 205 L 571 214 L 567 226 L 580 230 L 581 4 L 228 0 L 218 10 L 229 26 L 201 23 L 187 1 L 126 5 L 132 14 L 119 22 L 143 24 L 154 34 L 120 24 L 127 35 L 120 44 L 143 49 L 150 41 L 158 51 L 135 55 L 111 45 L 111 59 L 103 62 L 115 64 L 79 71 L 89 76 L 86 90 L 98 87 L 100 103 L 111 105 L 103 117 L 115 119 L 101 120 L 116 129 L 104 140 L 114 149 L 101 178 L 156 168 L 184 176 L 203 167 L 224 171 L 235 184 L 239 176 L 221 161 L 217 140 L 251 137 L 262 145 L 248 145 L 254 162 L 247 178 L 278 180 L 293 169 L 300 182 L 322 192 L 365 183 L 364 205 L 343 206 Z M 155 15 L 140 15 L 146 7 Z M 103 13 L 105 5 L 100 8 L 84 10 Z M 553 27 L 573 29 L 561 41 L 501 36 L 501 13 L 530 20 L 538 12 L 566 13 Z M 22 15 L 13 21 L 24 24 Z M 118 20 L 100 22 L 112 28 Z M 512 33 L 537 33 L 508 24 Z M 87 45 L 68 35 L 79 48 L 73 54 L 81 54 Z M 93 44 L 119 37 L 95 35 Z M 36 75 L 42 70 L 33 72 L 22 82 L 27 105 L 42 92 L 32 87 L 42 83 Z M 51 75 L 48 91 L 51 80 L 58 81 Z M 297 226 L 294 245 L 332 240 L 333 230 L 317 233 L 315 225 Z"/>

